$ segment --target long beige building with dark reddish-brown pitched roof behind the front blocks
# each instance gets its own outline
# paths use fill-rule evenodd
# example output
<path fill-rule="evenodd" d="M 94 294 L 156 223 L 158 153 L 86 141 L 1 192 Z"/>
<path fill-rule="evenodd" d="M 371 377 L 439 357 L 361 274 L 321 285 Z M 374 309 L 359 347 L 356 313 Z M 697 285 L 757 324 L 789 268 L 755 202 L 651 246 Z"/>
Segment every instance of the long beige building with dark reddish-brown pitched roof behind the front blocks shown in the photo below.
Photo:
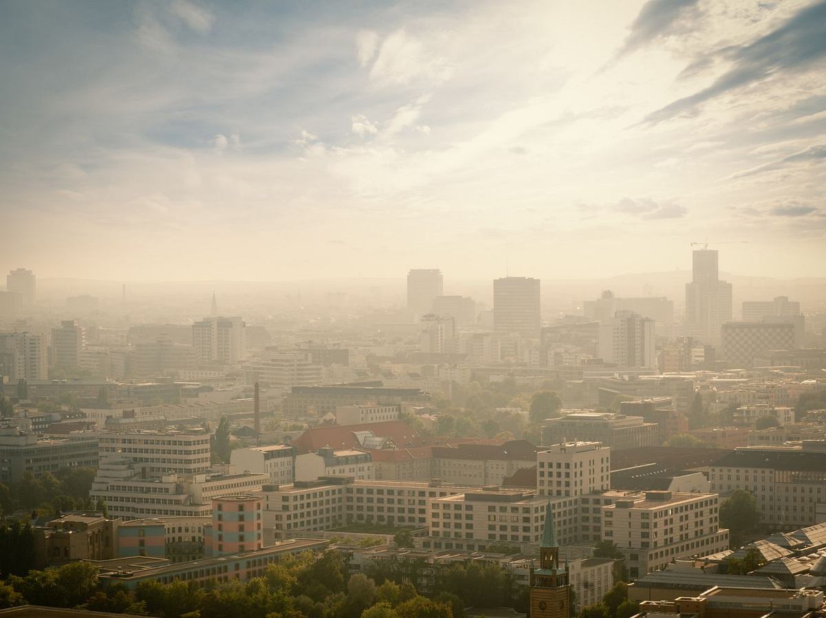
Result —
<path fill-rule="evenodd" d="M 528 440 L 505 444 L 434 446 L 433 478 L 463 487 L 501 485 L 520 468 L 536 465 L 536 447 Z"/>

